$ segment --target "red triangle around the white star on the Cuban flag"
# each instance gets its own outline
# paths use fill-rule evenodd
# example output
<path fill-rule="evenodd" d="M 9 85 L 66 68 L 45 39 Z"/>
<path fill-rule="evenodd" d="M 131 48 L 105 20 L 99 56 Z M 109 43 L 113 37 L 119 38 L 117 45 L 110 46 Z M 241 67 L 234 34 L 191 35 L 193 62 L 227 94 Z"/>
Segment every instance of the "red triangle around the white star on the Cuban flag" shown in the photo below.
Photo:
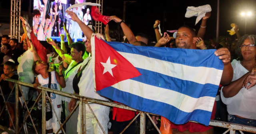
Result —
<path fill-rule="evenodd" d="M 115 49 L 95 37 L 95 83 L 96 91 L 110 87 L 120 81 L 140 76 L 140 72 Z M 108 60 L 110 59 L 110 64 Z M 108 63 L 108 71 L 104 71 Z M 112 72 L 111 72 L 112 71 Z M 112 74 L 111 74 L 112 73 Z M 113 75 L 113 76 L 112 76 Z"/>

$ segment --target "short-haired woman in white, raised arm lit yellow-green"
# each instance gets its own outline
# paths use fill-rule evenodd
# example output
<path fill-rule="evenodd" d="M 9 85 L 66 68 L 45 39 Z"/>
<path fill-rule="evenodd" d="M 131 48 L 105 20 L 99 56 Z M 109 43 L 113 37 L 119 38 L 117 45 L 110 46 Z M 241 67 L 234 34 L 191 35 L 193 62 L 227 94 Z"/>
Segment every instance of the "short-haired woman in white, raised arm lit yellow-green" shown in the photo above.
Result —
<path fill-rule="evenodd" d="M 64 59 L 66 63 L 69 64 L 68 69 L 65 71 L 65 81 L 66 81 L 66 87 L 62 89 L 62 91 L 67 93 L 74 93 L 73 89 L 73 79 L 78 72 L 78 69 L 80 68 L 81 64 L 84 59 L 83 55 L 85 53 L 85 46 L 83 43 L 75 42 L 70 45 L 71 48 L 71 54 L 66 54 L 52 39 L 48 41 L 49 44 L 51 44 L 56 52 Z M 71 98 L 63 97 L 62 101 L 65 101 L 65 108 L 66 108 L 66 118 L 70 114 L 68 111 L 68 104 L 70 102 Z M 78 109 L 72 114 L 68 122 L 66 123 L 66 133 L 67 134 L 76 134 L 77 131 L 77 117 L 78 117 Z"/>

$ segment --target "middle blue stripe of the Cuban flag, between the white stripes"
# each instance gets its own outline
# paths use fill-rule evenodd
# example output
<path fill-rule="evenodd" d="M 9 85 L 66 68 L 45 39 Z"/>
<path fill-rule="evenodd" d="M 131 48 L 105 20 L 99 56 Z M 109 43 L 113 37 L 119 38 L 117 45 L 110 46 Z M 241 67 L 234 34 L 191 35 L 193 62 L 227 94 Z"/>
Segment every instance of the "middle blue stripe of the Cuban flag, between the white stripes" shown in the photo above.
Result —
<path fill-rule="evenodd" d="M 134 77 L 132 80 L 164 89 L 170 89 L 172 91 L 176 91 L 194 98 L 200 98 L 204 96 L 216 97 L 216 93 L 219 87 L 213 84 L 203 85 L 192 81 L 186 81 L 145 69 L 136 69 L 142 75 Z M 199 89 L 202 89 L 202 91 Z"/>

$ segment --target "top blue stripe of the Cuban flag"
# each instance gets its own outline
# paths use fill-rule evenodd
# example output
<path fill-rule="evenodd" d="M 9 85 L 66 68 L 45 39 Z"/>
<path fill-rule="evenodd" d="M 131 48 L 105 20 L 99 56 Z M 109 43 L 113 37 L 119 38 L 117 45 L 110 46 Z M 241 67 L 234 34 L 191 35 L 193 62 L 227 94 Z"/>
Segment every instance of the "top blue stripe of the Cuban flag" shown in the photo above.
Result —
<path fill-rule="evenodd" d="M 146 57 L 169 61 L 172 63 L 179 63 L 192 67 L 213 67 L 220 70 L 224 67 L 222 61 L 214 55 L 216 49 L 197 50 L 167 47 L 144 47 L 120 42 L 105 42 L 116 51 L 144 55 Z M 177 49 L 179 51 L 177 51 Z M 212 54 L 209 55 L 209 53 Z"/>

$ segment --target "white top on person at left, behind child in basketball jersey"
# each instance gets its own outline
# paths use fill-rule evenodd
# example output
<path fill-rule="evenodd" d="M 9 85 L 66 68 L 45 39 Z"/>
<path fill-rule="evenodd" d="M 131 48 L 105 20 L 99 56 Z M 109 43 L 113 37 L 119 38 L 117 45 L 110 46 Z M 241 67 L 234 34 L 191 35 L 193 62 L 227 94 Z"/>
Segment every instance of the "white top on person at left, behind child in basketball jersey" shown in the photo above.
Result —
<path fill-rule="evenodd" d="M 34 55 L 30 50 L 24 52 L 20 57 L 18 57 L 18 73 L 31 72 L 32 73 L 32 65 L 34 63 Z"/>

